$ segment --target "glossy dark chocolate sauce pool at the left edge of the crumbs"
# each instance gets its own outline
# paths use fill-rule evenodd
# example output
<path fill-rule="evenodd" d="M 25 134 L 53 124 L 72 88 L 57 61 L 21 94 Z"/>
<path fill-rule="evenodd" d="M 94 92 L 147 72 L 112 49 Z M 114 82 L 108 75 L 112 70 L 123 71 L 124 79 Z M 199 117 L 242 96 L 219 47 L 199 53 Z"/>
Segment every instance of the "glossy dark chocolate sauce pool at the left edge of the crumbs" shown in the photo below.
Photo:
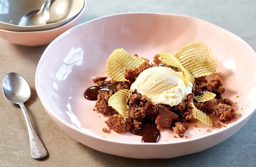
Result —
<path fill-rule="evenodd" d="M 96 101 L 99 94 L 99 90 L 113 90 L 116 92 L 116 84 L 106 84 L 103 86 L 91 86 L 84 92 L 84 97 L 88 100 Z"/>

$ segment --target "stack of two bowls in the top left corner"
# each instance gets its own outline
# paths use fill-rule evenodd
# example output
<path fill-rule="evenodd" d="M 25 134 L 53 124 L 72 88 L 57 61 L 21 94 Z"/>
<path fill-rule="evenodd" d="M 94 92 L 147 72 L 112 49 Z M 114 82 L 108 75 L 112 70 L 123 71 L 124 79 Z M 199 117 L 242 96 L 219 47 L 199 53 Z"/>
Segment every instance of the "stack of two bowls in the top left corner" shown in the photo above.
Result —
<path fill-rule="evenodd" d="M 27 13 L 41 9 L 45 0 L 7 1 L 0 3 L 0 38 L 24 46 L 49 44 L 82 17 L 86 0 L 48 0 L 50 13 L 47 24 L 18 25 Z"/>

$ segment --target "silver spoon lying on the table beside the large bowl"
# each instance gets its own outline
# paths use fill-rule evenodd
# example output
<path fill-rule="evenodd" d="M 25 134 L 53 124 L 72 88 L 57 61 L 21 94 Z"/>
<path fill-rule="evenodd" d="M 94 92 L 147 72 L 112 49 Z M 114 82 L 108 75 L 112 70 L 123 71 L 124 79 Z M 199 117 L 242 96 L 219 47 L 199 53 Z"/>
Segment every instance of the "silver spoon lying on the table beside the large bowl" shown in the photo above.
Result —
<path fill-rule="evenodd" d="M 24 102 L 26 102 L 31 95 L 27 81 L 18 73 L 8 73 L 2 82 L 2 90 L 5 98 L 11 103 L 20 105 L 23 111 L 23 115 L 27 123 L 32 157 L 36 160 L 46 158 L 48 152 L 36 135 L 24 105 Z"/>

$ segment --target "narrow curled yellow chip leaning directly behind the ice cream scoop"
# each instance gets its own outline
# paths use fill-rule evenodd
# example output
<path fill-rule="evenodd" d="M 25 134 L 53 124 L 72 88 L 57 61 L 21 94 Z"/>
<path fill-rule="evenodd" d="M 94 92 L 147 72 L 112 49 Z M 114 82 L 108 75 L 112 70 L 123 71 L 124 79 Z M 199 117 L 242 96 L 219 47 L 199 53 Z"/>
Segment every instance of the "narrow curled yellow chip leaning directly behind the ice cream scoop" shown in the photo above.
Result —
<path fill-rule="evenodd" d="M 182 71 L 184 83 L 194 83 L 195 78 L 193 75 L 190 74 L 179 62 L 179 60 L 170 53 L 164 53 L 162 52 L 160 56 L 158 57 L 159 60 L 161 60 L 163 63 L 168 64 L 169 66 L 173 66 L 176 68 L 179 68 Z"/>

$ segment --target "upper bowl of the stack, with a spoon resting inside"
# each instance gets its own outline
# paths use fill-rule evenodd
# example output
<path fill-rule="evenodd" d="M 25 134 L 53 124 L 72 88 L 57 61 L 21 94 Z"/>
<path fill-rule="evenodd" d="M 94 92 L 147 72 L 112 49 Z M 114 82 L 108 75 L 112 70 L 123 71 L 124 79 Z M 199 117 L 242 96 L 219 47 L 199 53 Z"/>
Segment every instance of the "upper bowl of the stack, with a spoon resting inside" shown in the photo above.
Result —
<path fill-rule="evenodd" d="M 30 11 L 40 9 L 45 0 L 3 1 L 0 13 L 0 29 L 9 31 L 43 31 L 57 28 L 75 18 L 86 5 L 86 0 L 55 0 L 50 7 L 48 24 L 40 26 L 18 26 L 18 21 Z M 29 5 L 28 5 L 29 4 Z M 63 10 L 65 9 L 65 10 Z"/>

